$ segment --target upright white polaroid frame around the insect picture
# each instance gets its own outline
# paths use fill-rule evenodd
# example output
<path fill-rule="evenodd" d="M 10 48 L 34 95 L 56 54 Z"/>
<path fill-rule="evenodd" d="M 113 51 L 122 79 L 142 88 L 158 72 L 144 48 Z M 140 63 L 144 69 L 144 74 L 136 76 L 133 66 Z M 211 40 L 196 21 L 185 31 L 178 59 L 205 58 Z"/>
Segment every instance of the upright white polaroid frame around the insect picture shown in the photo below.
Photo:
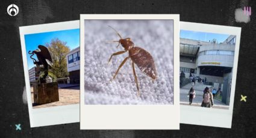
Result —
<path fill-rule="evenodd" d="M 139 104 L 139 105 L 120 105 L 120 104 L 86 104 L 85 97 L 90 96 L 85 94 L 85 32 L 86 20 L 173 20 L 173 103 L 169 104 Z M 81 14 L 80 15 L 80 44 L 81 44 L 81 102 L 80 102 L 80 128 L 81 130 L 178 130 L 180 129 L 180 103 L 179 103 L 179 49 L 180 43 L 180 16 L 177 14 Z M 96 24 L 93 24 L 96 25 Z M 116 24 L 118 25 L 118 23 Z M 171 25 L 171 24 L 170 24 Z M 104 24 L 105 28 L 119 40 L 120 37 L 113 29 L 108 27 L 108 23 Z M 110 25 L 111 26 L 111 25 Z M 114 28 L 114 26 L 111 26 Z M 134 28 L 133 28 L 134 27 Z M 162 27 L 162 26 L 160 26 Z M 127 28 L 127 26 L 126 26 Z M 136 26 L 130 26 L 130 29 L 135 29 Z M 102 30 L 101 30 L 102 31 Z M 98 31 L 96 31 L 98 33 Z M 120 34 L 124 34 L 120 32 Z M 90 34 L 92 35 L 92 34 Z M 128 35 L 128 34 L 126 34 Z M 152 34 L 153 35 L 153 34 Z M 108 35 L 107 35 L 108 36 Z M 133 36 L 128 35 L 133 40 Z M 110 39 L 111 37 L 109 37 Z M 105 41 L 108 41 L 106 39 Z M 93 41 L 98 41 L 94 39 Z M 154 40 L 152 40 L 154 41 Z M 104 41 L 102 43 L 106 44 Z M 116 48 L 117 43 L 111 43 L 113 48 Z M 143 44 L 139 45 L 143 47 Z M 122 46 L 119 46 L 119 48 Z M 121 48 L 120 48 L 121 49 Z M 120 51 L 120 49 L 116 49 Z M 103 53 L 102 53 L 103 54 Z M 108 55 L 108 58 L 111 55 Z M 107 57 L 107 56 L 106 56 Z M 117 57 L 117 56 L 116 56 Z M 114 57 L 114 58 L 116 58 Z M 120 57 L 120 56 L 119 56 Z M 107 65 L 107 59 L 106 65 Z M 119 61 L 119 64 L 122 61 Z M 93 63 L 94 64 L 94 63 Z M 127 63 L 126 63 L 127 64 Z M 131 67 L 131 64 L 128 64 Z M 110 66 L 111 67 L 111 66 Z M 115 68 L 116 70 L 117 68 Z M 122 69 L 121 69 L 122 70 Z M 136 68 L 139 71 L 139 68 Z M 132 68 L 125 73 L 133 73 Z M 120 75 L 120 74 L 119 74 Z M 131 74 L 133 75 L 133 74 Z M 120 75 L 122 76 L 122 75 Z M 134 80 L 133 80 L 134 81 Z M 131 82 L 130 82 L 131 83 Z M 136 83 L 133 83 L 136 89 Z M 104 86 L 103 86 L 104 87 Z M 104 94 L 103 94 L 104 95 Z M 136 95 L 136 92 L 134 92 Z M 134 96 L 136 98 L 136 96 Z M 103 97 L 104 98 L 104 97 Z M 99 99 L 101 100 L 101 99 Z M 133 103 L 131 103 L 133 104 Z"/>

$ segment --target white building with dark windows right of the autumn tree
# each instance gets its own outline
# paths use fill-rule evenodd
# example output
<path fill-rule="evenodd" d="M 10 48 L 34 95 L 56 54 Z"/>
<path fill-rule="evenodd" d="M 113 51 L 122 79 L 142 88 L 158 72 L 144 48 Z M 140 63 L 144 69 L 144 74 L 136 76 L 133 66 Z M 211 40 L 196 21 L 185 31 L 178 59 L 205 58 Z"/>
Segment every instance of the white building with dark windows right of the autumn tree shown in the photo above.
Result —
<path fill-rule="evenodd" d="M 66 55 L 67 72 L 69 72 L 70 83 L 80 83 L 80 47 L 71 50 Z"/>

